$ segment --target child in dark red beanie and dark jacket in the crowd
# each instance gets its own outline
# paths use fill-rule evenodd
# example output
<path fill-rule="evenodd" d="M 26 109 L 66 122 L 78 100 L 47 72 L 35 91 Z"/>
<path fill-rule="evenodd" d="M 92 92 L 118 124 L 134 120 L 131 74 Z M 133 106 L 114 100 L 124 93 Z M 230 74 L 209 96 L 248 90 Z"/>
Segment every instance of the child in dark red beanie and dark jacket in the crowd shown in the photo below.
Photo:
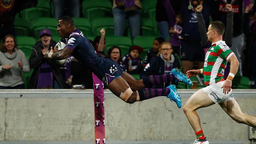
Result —
<path fill-rule="evenodd" d="M 130 47 L 129 54 L 122 58 L 122 64 L 129 74 L 140 74 L 143 70 L 142 59 L 139 57 L 142 52 L 142 47 L 134 45 Z"/>

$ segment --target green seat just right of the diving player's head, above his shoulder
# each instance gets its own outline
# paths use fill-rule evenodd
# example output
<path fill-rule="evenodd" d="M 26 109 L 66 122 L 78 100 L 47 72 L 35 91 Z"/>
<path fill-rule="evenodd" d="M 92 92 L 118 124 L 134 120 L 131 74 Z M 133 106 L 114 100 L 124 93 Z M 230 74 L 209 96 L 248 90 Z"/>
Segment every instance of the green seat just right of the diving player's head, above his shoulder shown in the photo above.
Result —
<path fill-rule="evenodd" d="M 87 18 L 73 17 L 76 28 L 79 28 L 83 35 L 91 35 L 91 22 Z"/>

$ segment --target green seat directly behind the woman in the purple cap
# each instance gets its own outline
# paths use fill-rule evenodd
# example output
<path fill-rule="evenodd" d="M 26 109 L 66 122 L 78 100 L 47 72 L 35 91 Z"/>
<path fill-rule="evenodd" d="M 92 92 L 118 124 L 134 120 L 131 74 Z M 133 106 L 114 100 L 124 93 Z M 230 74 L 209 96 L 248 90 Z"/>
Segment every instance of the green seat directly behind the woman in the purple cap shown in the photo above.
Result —
<path fill-rule="evenodd" d="M 30 20 L 30 29 L 32 30 L 35 38 L 39 38 L 39 31 L 43 30 L 44 28 L 48 28 L 51 31 L 52 36 L 59 36 L 56 30 L 57 24 L 58 20 L 56 18 L 33 18 L 32 20 Z"/>

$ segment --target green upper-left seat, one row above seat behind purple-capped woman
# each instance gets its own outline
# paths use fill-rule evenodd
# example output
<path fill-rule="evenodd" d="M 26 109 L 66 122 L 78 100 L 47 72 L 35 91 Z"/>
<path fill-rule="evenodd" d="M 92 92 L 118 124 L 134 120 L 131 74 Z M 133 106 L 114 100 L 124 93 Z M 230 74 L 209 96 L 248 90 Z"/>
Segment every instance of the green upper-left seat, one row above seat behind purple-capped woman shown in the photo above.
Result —
<path fill-rule="evenodd" d="M 37 17 L 50 17 L 50 11 L 41 7 L 30 7 L 21 11 L 21 17 L 26 18 L 26 20 Z"/>

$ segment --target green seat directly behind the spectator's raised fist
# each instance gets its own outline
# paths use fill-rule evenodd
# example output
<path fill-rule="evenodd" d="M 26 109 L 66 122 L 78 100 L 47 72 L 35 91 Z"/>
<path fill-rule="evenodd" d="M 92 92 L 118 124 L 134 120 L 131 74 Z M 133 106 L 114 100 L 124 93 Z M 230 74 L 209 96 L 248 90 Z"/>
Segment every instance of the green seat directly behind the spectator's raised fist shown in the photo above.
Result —
<path fill-rule="evenodd" d="M 114 35 L 114 21 L 113 17 L 99 17 L 95 18 L 91 22 L 93 35 L 100 35 L 100 30 L 102 28 L 106 29 L 105 36 L 113 36 Z"/>

